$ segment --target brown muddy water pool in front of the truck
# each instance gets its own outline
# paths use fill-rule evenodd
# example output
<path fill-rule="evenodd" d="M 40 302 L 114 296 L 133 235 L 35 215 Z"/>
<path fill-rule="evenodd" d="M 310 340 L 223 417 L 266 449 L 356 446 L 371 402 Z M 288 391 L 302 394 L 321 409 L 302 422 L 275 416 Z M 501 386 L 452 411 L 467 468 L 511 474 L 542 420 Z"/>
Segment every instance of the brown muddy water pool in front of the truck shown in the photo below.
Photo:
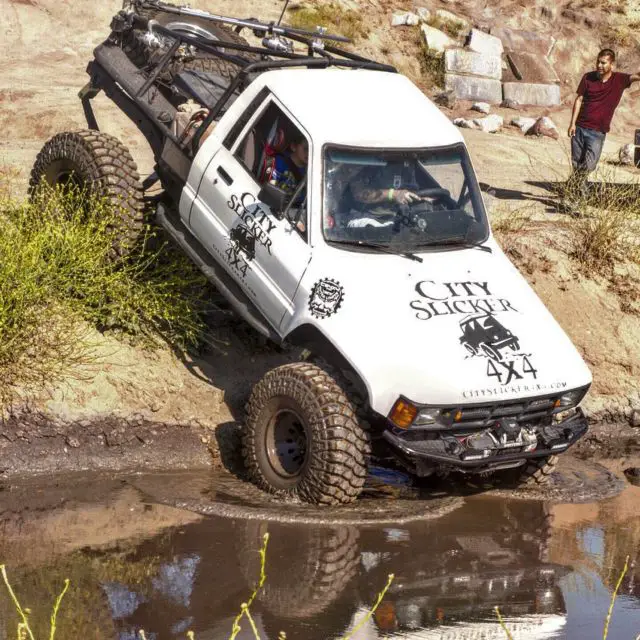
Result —
<path fill-rule="evenodd" d="M 640 488 L 596 503 L 584 501 L 583 486 L 576 504 L 567 495 L 550 503 L 417 492 L 396 480 L 372 480 L 360 504 L 330 522 L 211 474 L 7 484 L 0 560 L 32 610 L 36 638 L 48 637 L 50 606 L 68 577 L 59 640 L 133 640 L 140 629 L 149 640 L 189 630 L 197 640 L 226 639 L 258 578 L 265 533 L 266 582 L 251 606 L 265 640 L 280 631 L 288 640 L 347 636 L 390 573 L 382 604 L 352 638 L 505 638 L 496 605 L 514 638 L 602 638 L 625 558 L 640 560 Z M 0 637 L 16 637 L 16 625 L 0 588 Z M 241 626 L 239 640 L 255 637 Z M 640 565 L 622 581 L 609 638 L 638 634 Z"/>

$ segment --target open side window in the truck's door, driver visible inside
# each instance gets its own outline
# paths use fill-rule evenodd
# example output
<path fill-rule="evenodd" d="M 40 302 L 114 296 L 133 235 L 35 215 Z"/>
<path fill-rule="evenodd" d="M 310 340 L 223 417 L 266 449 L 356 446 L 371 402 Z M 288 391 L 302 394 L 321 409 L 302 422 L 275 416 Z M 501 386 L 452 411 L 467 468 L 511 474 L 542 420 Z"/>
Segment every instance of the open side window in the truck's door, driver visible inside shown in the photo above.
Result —
<path fill-rule="evenodd" d="M 234 156 L 259 185 L 283 192 L 285 217 L 306 239 L 309 142 L 280 107 L 272 102 L 238 144 Z"/>

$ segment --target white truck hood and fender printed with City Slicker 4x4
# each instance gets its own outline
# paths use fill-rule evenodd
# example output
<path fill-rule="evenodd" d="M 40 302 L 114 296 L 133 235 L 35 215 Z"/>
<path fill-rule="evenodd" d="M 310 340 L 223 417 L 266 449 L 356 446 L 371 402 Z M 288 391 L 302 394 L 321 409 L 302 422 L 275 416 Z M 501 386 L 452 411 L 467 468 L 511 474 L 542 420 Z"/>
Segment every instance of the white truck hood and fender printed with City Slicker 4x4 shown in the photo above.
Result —
<path fill-rule="evenodd" d="M 399 396 L 478 404 L 590 384 L 562 328 L 497 244 L 489 246 L 492 253 L 421 253 L 421 263 L 324 247 L 301 283 L 303 311 L 293 324 L 314 324 L 328 337 L 382 415 Z"/>

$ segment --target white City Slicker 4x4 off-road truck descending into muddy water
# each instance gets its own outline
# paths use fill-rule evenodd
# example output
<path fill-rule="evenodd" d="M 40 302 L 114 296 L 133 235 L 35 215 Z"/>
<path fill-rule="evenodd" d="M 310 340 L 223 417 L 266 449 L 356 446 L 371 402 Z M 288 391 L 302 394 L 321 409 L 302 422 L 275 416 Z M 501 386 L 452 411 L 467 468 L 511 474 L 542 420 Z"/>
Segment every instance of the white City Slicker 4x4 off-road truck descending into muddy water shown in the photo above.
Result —
<path fill-rule="evenodd" d="M 45 144 L 31 188 L 71 181 L 113 201 L 126 252 L 159 181 L 157 222 L 240 317 L 304 348 L 247 403 L 243 454 L 263 489 L 348 503 L 372 455 L 417 476 L 543 482 L 587 431 L 589 370 L 491 235 L 458 130 L 339 40 L 127 2 L 87 69 L 88 129 Z M 151 145 L 143 184 L 98 128 L 100 91 Z"/>

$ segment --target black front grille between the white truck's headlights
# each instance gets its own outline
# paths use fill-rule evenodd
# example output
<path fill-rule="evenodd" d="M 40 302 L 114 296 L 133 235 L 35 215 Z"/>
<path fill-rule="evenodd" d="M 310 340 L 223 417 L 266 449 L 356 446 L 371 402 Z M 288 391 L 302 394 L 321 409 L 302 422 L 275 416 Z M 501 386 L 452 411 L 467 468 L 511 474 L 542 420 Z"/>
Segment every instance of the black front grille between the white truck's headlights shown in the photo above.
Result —
<path fill-rule="evenodd" d="M 451 407 L 444 409 L 441 415 L 445 419 L 448 417 L 450 426 L 465 429 L 490 427 L 502 418 L 509 418 L 524 425 L 550 418 L 556 400 L 556 397 L 533 398 L 473 407 Z"/>

